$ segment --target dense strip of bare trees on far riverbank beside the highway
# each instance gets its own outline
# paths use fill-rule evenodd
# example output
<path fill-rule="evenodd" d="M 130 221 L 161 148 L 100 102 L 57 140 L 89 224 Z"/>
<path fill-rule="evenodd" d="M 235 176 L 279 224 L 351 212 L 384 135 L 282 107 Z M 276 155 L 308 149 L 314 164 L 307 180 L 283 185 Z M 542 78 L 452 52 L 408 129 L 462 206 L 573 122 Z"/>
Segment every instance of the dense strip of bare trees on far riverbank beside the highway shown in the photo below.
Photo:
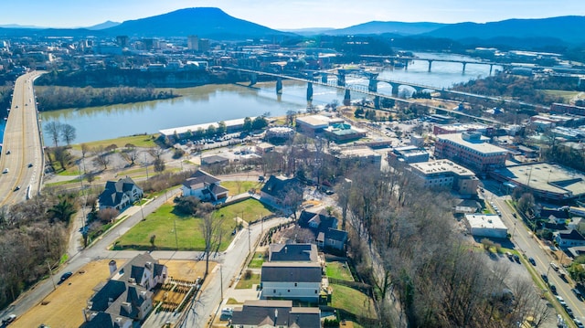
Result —
<path fill-rule="evenodd" d="M 173 90 L 131 87 L 37 87 L 36 94 L 39 111 L 106 106 L 117 103 L 155 101 L 179 97 L 179 95 L 173 93 Z"/>

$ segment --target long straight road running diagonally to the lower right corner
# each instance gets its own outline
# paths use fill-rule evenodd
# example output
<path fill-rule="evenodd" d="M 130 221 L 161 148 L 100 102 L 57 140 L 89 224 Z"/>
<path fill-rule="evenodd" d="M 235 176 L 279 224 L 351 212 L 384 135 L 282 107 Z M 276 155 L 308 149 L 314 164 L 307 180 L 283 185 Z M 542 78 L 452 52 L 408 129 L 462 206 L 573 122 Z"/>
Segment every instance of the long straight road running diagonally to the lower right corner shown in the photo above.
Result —
<path fill-rule="evenodd" d="M 489 188 L 489 186 L 488 186 Z M 494 188 L 490 188 L 495 191 Z M 532 231 L 524 225 L 520 219 L 516 219 L 512 215 L 513 211 L 505 202 L 505 196 L 497 196 L 487 188 L 485 189 L 485 197 L 488 201 L 494 202 L 502 213 L 502 219 L 508 227 L 508 231 L 512 236 L 512 240 L 516 245 L 518 251 L 526 254 L 528 258 L 535 259 L 537 265 L 536 270 L 538 274 L 545 273 L 548 275 L 548 280 L 551 284 L 557 287 L 558 295 L 561 296 L 569 305 L 569 308 L 575 313 L 575 317 L 579 318 L 581 322 L 585 319 L 585 304 L 573 294 L 570 289 L 572 285 L 569 282 L 562 280 L 555 270 L 550 269 L 550 262 L 558 263 L 557 259 L 553 259 L 550 255 L 550 249 L 540 243 L 532 234 Z M 572 283 L 572 282 L 570 282 Z M 547 291 L 550 292 L 550 291 Z"/>

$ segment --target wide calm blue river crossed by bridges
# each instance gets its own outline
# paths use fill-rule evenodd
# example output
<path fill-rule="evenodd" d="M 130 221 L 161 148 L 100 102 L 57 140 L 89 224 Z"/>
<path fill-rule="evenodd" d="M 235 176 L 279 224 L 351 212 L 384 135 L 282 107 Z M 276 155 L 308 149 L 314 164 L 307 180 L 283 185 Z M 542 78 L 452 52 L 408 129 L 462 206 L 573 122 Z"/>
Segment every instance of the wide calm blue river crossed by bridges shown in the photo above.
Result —
<path fill-rule="evenodd" d="M 454 55 L 419 54 L 422 58 L 463 58 Z M 467 58 L 469 59 L 469 58 Z M 497 68 L 499 69 L 499 68 Z M 447 88 L 453 83 L 485 77 L 489 66 L 468 64 L 465 74 L 458 63 L 433 62 L 428 71 L 427 61 L 410 63 L 409 69 L 385 70 L 380 79 L 417 82 L 436 88 Z M 364 84 L 364 79 L 346 79 L 348 84 Z M 378 91 L 390 93 L 388 84 L 379 83 Z M 246 88 L 236 85 L 208 85 L 179 90 L 184 97 L 167 101 L 147 101 L 126 105 L 86 108 L 80 110 L 48 111 L 41 113 L 43 125 L 58 121 L 77 129 L 75 143 L 112 139 L 135 133 L 154 133 L 161 129 L 206 122 L 258 116 L 270 112 L 271 116 L 306 108 L 306 85 L 284 83 L 282 95 L 277 96 L 274 83 Z M 343 102 L 344 92 L 334 88 L 314 86 L 314 105 L 333 100 Z M 352 93 L 352 99 L 363 95 Z M 1 129 L 1 128 L 0 128 Z M 46 136 L 46 140 L 49 138 Z"/>

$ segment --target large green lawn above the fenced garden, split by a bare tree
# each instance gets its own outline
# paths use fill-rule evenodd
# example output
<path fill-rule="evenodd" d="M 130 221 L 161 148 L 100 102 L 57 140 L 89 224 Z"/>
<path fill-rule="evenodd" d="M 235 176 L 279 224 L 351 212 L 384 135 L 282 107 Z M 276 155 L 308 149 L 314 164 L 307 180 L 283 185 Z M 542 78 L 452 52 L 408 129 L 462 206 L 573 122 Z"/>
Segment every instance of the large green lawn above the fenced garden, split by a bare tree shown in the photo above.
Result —
<path fill-rule="evenodd" d="M 178 244 L 179 250 L 204 250 L 200 224 L 200 218 L 177 214 L 174 206 L 165 204 L 119 238 L 114 249 L 152 249 L 150 240 L 154 235 L 155 249 L 177 249 Z M 228 248 L 234 227 L 235 221 L 225 220 L 219 250 Z"/>

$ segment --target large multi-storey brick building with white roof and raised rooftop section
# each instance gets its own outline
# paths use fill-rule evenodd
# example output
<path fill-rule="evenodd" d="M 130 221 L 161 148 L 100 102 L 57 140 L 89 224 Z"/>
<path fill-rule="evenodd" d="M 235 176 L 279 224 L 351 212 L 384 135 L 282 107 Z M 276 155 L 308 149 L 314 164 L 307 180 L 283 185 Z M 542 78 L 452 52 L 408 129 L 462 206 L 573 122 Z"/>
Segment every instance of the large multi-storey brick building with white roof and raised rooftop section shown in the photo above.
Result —
<path fill-rule="evenodd" d="M 507 151 L 486 143 L 480 132 L 441 134 L 435 143 L 435 156 L 450 159 L 476 173 L 487 173 L 505 165 Z"/>

